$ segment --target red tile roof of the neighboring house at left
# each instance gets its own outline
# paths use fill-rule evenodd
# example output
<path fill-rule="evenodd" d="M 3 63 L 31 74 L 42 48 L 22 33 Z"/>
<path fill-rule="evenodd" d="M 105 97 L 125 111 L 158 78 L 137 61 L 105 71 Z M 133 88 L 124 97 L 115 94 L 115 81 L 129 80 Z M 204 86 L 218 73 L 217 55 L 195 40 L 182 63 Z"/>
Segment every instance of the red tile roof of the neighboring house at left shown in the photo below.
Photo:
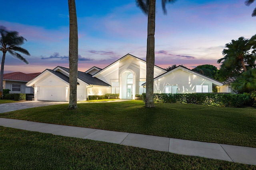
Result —
<path fill-rule="evenodd" d="M 22 72 L 13 72 L 4 74 L 4 79 L 8 80 L 20 80 L 20 81 L 30 81 L 38 76 L 40 73 L 22 73 Z"/>

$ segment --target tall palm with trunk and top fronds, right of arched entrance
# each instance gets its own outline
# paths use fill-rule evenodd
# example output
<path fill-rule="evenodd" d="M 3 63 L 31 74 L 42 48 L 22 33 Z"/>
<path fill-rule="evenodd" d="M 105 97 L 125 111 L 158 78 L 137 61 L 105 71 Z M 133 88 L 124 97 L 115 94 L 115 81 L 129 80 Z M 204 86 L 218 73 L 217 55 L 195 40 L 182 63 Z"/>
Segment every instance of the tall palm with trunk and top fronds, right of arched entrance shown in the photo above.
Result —
<path fill-rule="evenodd" d="M 162 9 L 166 11 L 166 3 L 175 0 L 162 0 Z M 148 39 L 146 54 L 146 103 L 145 107 L 154 107 L 154 64 L 155 64 L 155 25 L 156 0 L 136 0 L 137 6 L 148 15 Z"/>

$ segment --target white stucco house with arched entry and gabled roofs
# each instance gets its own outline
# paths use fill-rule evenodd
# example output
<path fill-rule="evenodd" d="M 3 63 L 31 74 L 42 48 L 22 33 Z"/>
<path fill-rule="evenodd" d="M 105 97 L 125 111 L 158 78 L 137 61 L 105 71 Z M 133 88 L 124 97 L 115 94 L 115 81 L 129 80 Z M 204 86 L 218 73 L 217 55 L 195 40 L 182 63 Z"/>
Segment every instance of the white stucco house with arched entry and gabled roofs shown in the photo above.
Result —
<path fill-rule="evenodd" d="M 223 83 L 178 66 L 171 71 L 154 66 L 154 93 L 212 93 L 213 87 Z M 77 100 L 88 95 L 119 93 L 120 99 L 135 99 L 146 92 L 146 61 L 127 54 L 104 69 L 92 67 L 78 71 Z M 27 86 L 34 87 L 35 100 L 68 101 L 69 69 L 58 66 L 46 69 Z"/>

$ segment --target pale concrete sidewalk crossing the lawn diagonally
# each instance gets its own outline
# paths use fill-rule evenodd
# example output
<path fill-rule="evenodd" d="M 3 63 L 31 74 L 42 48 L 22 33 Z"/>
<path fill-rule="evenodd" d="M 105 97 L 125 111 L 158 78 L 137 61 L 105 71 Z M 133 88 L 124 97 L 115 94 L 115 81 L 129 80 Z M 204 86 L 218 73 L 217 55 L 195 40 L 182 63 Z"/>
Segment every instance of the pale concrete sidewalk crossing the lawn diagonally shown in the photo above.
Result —
<path fill-rule="evenodd" d="M 0 118 L 0 126 L 256 165 L 256 148 Z"/>

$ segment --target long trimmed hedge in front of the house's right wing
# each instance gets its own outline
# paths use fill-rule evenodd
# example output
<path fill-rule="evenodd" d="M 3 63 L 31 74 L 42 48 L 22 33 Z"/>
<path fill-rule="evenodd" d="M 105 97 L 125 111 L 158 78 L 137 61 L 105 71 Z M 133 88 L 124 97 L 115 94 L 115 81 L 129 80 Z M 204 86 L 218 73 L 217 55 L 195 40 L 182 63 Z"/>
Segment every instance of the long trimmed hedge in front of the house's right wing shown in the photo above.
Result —
<path fill-rule="evenodd" d="M 145 101 L 146 93 L 142 94 Z M 190 103 L 208 106 L 241 107 L 246 102 L 242 94 L 214 94 L 214 93 L 154 93 L 154 101 L 158 103 Z"/>

